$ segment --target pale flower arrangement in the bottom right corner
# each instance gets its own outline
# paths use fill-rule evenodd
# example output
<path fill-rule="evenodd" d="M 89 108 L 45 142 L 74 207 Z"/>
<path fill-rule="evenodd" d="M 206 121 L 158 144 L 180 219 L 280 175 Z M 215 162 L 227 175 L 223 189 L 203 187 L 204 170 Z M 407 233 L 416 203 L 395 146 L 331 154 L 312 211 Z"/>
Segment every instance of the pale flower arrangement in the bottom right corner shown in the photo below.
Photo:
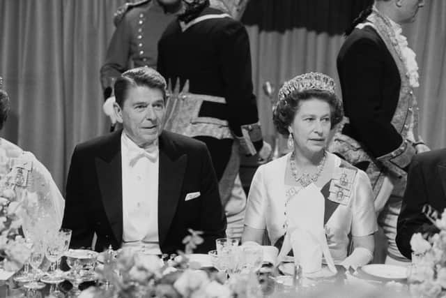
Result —
<path fill-rule="evenodd" d="M 441 218 L 426 214 L 440 232 L 433 236 L 413 234 L 413 266 L 408 276 L 414 297 L 446 297 L 446 209 Z"/>

